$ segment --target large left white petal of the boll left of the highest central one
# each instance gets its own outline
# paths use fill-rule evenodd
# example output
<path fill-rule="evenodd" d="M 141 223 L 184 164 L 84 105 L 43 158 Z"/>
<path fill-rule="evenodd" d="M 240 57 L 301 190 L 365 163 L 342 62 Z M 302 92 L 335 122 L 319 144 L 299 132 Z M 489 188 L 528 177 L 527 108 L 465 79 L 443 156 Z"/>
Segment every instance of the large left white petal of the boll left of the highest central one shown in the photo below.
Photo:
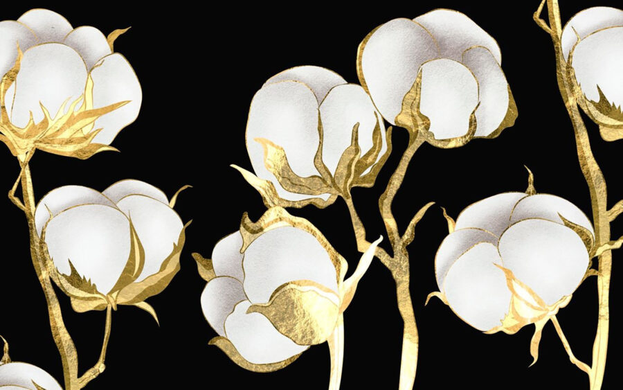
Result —
<path fill-rule="evenodd" d="M 256 138 L 281 146 L 290 168 L 300 177 L 318 175 L 314 157 L 318 136 L 318 101 L 302 82 L 282 81 L 265 85 L 251 101 L 246 123 L 246 149 L 251 165 L 260 179 L 271 180 L 278 194 L 288 200 L 307 199 L 309 195 L 289 193 L 264 166 L 264 148 Z M 328 195 L 327 195 L 328 197 Z"/>

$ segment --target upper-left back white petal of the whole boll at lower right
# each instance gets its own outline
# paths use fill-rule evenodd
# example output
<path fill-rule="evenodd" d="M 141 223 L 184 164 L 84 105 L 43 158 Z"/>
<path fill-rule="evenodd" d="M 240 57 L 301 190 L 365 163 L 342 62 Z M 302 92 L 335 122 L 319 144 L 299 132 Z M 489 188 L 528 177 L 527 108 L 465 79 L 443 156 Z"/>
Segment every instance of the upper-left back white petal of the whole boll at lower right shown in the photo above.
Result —
<path fill-rule="evenodd" d="M 455 229 L 475 227 L 499 237 L 509 225 L 514 206 L 526 196 L 525 193 L 502 193 L 471 204 L 459 214 Z"/>

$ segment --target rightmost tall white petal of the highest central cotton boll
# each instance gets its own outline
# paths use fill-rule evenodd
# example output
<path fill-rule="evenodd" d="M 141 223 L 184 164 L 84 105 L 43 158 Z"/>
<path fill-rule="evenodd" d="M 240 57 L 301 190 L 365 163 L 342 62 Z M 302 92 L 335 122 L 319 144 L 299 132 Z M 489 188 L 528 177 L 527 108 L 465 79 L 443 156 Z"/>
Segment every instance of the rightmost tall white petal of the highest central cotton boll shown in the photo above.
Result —
<path fill-rule="evenodd" d="M 508 112 L 508 82 L 500 64 L 489 49 L 483 46 L 470 48 L 463 53 L 462 63 L 478 80 L 480 105 L 476 110 L 476 134 L 488 136 L 496 131 Z"/>

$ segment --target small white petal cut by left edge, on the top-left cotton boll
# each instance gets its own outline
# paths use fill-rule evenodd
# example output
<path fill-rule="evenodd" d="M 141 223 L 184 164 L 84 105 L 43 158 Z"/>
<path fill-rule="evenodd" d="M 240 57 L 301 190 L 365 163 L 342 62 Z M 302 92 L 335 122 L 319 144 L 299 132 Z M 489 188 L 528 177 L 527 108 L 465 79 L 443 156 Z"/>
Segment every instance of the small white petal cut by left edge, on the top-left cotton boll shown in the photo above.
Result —
<path fill-rule="evenodd" d="M 26 25 L 17 21 L 0 21 L 0 78 L 15 65 L 17 45 L 26 51 L 37 43 L 37 37 Z"/>

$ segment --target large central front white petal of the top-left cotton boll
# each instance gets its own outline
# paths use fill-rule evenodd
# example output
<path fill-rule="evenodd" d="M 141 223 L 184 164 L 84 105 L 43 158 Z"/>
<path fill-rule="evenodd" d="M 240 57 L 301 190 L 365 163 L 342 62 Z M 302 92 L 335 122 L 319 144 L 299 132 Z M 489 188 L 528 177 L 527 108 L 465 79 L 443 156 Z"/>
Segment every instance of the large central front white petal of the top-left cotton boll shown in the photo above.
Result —
<path fill-rule="evenodd" d="M 51 116 L 67 100 L 84 94 L 87 67 L 82 57 L 65 44 L 40 44 L 29 48 L 17 73 L 11 122 L 24 127 L 33 113 L 35 123 L 44 118 L 42 104 Z M 65 107 L 69 109 L 69 104 Z"/>

